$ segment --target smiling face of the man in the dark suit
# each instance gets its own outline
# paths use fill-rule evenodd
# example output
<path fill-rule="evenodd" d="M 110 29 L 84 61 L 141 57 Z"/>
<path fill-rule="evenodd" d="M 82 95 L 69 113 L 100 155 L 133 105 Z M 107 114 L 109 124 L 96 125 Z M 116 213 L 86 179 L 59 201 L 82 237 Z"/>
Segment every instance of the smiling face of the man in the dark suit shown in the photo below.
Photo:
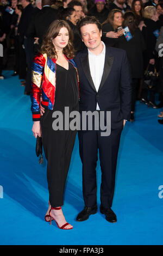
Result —
<path fill-rule="evenodd" d="M 95 51 L 101 46 L 102 31 L 96 24 L 87 24 L 80 28 L 82 41 L 90 51 Z"/>

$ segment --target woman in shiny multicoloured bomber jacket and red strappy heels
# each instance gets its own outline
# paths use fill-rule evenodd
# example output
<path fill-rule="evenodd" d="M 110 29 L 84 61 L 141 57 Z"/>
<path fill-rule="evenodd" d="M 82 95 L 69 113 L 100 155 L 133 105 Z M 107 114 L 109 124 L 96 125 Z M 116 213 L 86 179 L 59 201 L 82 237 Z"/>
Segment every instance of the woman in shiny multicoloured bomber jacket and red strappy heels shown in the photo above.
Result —
<path fill-rule="evenodd" d="M 52 22 L 43 39 L 41 53 L 34 58 L 32 66 L 32 131 L 35 137 L 42 137 L 47 159 L 49 208 L 45 220 L 55 220 L 60 229 L 72 229 L 65 220 L 61 205 L 64 204 L 64 188 L 76 130 L 58 130 L 58 126 L 54 127 L 56 119 L 52 114 L 60 111 L 65 120 L 65 107 L 69 107 L 69 112 L 78 111 L 78 74 L 72 59 L 72 39 L 72 31 L 66 21 Z M 45 113 L 40 118 L 41 94 Z"/>

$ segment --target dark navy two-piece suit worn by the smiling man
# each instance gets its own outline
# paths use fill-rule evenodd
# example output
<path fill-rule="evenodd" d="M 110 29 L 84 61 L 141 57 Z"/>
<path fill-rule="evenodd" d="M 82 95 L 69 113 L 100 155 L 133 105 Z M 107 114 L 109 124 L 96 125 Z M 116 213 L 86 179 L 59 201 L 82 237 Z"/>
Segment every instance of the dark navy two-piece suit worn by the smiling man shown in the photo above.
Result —
<path fill-rule="evenodd" d="M 74 58 L 79 73 L 80 112 L 111 111 L 111 135 L 102 137 L 101 131 L 79 131 L 79 151 L 83 163 L 83 196 L 87 207 L 97 203 L 96 163 L 102 170 L 101 205 L 111 208 L 115 187 L 115 172 L 123 120 L 130 119 L 131 76 L 126 51 L 106 47 L 104 71 L 96 92 L 93 84 L 87 49 Z"/>

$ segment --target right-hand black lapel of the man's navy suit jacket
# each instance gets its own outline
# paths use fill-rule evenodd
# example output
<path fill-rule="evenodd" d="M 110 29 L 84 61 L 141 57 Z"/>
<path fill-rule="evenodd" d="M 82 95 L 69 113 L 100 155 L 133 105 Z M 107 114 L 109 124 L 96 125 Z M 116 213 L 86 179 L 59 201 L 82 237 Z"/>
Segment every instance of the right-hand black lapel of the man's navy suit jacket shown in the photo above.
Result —
<path fill-rule="evenodd" d="M 98 91 L 103 87 L 106 81 L 106 78 L 109 76 L 113 62 L 114 62 L 114 56 L 109 57 L 108 54 L 105 52 L 104 71 L 103 71 L 102 80 L 101 80 L 101 84 L 99 86 Z"/>

